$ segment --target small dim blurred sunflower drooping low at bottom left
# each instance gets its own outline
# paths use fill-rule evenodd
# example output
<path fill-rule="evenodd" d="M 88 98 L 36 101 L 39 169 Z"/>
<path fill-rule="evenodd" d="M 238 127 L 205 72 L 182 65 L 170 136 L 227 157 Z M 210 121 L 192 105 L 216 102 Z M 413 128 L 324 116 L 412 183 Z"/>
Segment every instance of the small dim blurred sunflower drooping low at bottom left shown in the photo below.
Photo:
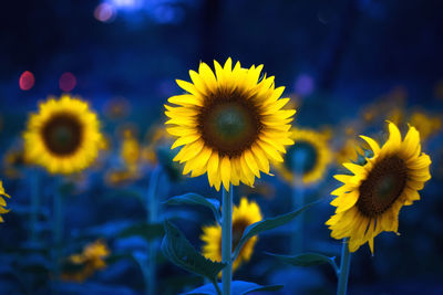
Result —
<path fill-rule="evenodd" d="M 83 252 L 68 257 L 63 281 L 82 283 L 91 277 L 96 271 L 106 267 L 105 259 L 111 254 L 107 245 L 102 240 L 87 244 Z M 70 270 L 68 270 L 70 268 Z"/>

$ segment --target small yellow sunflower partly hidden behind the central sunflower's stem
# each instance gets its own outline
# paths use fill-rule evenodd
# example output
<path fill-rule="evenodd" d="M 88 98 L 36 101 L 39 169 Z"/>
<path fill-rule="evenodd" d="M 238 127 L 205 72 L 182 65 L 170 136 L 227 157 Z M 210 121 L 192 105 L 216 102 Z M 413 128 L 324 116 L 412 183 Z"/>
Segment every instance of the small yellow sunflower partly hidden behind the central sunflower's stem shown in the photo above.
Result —
<path fill-rule="evenodd" d="M 255 201 L 249 202 L 246 197 L 240 200 L 240 206 L 233 209 L 233 251 L 240 241 L 247 226 L 262 219 L 260 208 Z M 220 225 L 208 225 L 203 228 L 200 240 L 204 242 L 202 247 L 203 255 L 212 261 L 222 261 L 222 228 Z M 243 246 L 237 259 L 233 263 L 233 271 L 237 270 L 241 263 L 248 262 L 253 256 L 254 246 L 257 243 L 257 235 L 251 238 Z"/>

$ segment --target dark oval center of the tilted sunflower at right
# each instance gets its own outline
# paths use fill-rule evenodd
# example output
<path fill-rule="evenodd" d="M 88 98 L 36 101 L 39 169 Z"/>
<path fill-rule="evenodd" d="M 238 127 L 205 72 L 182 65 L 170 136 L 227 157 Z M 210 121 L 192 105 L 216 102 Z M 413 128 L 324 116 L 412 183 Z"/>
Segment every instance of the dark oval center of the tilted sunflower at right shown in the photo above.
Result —
<path fill-rule="evenodd" d="M 408 169 L 398 156 L 377 162 L 368 178 L 360 185 L 357 208 L 367 217 L 377 217 L 387 211 L 403 192 Z"/>

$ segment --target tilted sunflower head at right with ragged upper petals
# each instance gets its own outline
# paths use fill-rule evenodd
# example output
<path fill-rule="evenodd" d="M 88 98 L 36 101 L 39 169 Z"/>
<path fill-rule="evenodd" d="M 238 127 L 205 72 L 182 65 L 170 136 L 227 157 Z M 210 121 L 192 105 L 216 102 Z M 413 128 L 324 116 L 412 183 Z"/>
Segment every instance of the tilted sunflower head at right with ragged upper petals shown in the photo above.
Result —
<path fill-rule="evenodd" d="M 398 232 L 403 206 L 420 200 L 419 190 L 431 178 L 431 159 L 421 152 L 420 134 L 410 126 L 404 140 L 399 128 L 389 123 L 389 139 L 380 148 L 370 137 L 361 136 L 372 149 L 372 157 L 361 164 L 346 162 L 352 175 L 337 175 L 343 186 L 331 192 L 336 214 L 326 224 L 334 239 L 350 238 L 349 251 L 369 243 L 382 231 Z"/>

